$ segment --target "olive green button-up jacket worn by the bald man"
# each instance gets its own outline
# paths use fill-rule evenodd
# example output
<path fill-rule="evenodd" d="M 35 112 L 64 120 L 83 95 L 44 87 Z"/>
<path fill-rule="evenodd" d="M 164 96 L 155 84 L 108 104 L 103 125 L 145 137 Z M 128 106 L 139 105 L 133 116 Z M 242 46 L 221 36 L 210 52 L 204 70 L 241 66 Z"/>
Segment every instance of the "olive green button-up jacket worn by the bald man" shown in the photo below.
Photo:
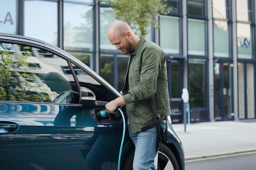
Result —
<path fill-rule="evenodd" d="M 151 97 L 158 116 L 171 115 L 166 56 L 157 44 L 141 37 L 130 55 L 124 84 L 122 92 L 132 133 L 154 122 Z"/>

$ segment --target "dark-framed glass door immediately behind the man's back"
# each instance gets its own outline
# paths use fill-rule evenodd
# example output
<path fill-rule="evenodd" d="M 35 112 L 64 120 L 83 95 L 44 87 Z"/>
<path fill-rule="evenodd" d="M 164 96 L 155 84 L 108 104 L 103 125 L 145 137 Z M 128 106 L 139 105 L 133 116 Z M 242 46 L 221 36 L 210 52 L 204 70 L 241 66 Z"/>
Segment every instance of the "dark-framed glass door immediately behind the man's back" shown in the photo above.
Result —
<path fill-rule="evenodd" d="M 172 122 L 182 123 L 183 121 L 183 60 L 167 60 L 168 88 L 172 111 Z"/>

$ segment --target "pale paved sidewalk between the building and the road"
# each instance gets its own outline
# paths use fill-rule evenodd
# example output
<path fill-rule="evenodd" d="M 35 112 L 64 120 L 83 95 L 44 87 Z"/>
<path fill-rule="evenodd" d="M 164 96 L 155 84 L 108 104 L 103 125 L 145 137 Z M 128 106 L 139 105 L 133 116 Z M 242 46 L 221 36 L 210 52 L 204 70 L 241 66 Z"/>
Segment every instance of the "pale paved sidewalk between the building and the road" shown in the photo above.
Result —
<path fill-rule="evenodd" d="M 185 160 L 256 151 L 256 119 L 173 124 L 182 141 Z"/>

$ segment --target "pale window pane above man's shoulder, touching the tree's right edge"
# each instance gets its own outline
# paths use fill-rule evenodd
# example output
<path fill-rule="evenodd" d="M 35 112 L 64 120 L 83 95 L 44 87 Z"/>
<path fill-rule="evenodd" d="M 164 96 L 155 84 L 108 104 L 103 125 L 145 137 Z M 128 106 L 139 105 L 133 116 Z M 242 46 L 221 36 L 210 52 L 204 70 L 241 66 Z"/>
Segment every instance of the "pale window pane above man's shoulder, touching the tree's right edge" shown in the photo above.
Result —
<path fill-rule="evenodd" d="M 180 54 L 180 18 L 160 15 L 160 46 L 164 53 Z"/>

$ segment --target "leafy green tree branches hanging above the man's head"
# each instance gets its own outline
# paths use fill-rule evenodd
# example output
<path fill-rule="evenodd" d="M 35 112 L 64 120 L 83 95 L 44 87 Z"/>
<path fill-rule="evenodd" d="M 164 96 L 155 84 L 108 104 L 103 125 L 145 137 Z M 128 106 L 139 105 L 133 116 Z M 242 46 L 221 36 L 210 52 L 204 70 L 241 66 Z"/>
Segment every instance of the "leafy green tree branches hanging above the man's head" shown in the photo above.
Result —
<path fill-rule="evenodd" d="M 116 11 L 116 19 L 130 24 L 132 29 L 137 30 L 138 36 L 148 34 L 147 27 L 159 28 L 159 21 L 154 17 L 161 14 L 167 15 L 172 7 L 167 6 L 167 0 L 100 0 L 109 4 Z"/>

